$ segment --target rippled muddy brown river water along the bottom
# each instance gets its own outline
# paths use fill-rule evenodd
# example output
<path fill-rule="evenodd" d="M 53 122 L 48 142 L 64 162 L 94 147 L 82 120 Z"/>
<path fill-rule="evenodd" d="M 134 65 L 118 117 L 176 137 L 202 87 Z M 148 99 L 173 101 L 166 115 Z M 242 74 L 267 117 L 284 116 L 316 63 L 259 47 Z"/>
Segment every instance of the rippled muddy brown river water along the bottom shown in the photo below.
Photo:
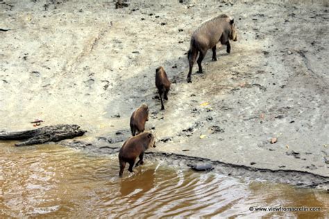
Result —
<path fill-rule="evenodd" d="M 0 217 L 328 216 L 326 191 L 237 179 L 147 161 L 119 178 L 117 155 L 0 143 Z M 250 207 L 321 207 L 311 212 Z"/>

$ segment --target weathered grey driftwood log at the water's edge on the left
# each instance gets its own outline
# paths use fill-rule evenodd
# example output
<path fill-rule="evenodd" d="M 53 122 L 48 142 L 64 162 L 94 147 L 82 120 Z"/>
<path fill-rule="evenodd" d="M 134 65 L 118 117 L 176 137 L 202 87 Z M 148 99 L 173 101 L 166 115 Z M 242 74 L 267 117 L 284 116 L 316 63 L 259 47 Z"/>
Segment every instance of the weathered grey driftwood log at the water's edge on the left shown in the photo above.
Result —
<path fill-rule="evenodd" d="M 82 136 L 85 132 L 87 131 L 81 130 L 78 125 L 50 125 L 35 130 L 0 132 L 0 140 L 26 140 L 15 143 L 15 146 L 29 146 L 49 141 L 72 139 Z"/>

